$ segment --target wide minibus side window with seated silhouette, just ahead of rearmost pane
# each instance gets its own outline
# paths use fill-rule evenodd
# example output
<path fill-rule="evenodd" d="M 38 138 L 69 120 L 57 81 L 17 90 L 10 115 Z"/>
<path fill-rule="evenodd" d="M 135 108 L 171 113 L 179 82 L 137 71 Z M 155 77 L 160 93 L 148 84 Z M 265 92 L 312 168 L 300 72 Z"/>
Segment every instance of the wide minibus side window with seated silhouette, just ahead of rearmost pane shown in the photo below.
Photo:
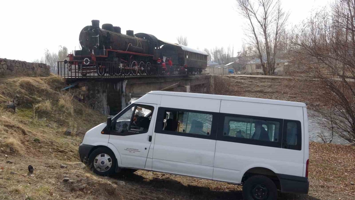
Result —
<path fill-rule="evenodd" d="M 279 142 L 280 122 L 246 117 L 224 117 L 223 136 Z"/>

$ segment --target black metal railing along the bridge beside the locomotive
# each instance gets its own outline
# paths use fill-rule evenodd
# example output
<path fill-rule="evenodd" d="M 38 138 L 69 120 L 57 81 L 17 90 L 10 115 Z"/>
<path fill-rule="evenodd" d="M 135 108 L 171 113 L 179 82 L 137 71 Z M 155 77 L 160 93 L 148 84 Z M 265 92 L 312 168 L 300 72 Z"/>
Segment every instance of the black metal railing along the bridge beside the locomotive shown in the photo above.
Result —
<path fill-rule="evenodd" d="M 169 77 L 202 74 L 204 68 L 73 60 L 58 61 L 57 73 L 65 78 Z"/>

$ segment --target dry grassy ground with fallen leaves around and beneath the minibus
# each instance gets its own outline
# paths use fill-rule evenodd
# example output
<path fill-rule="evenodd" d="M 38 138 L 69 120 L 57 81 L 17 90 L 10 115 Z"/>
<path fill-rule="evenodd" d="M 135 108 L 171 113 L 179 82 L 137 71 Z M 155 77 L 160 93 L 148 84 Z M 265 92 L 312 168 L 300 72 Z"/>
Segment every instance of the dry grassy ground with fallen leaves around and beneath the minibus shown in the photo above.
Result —
<path fill-rule="evenodd" d="M 64 83 L 57 77 L 0 79 L 0 199 L 240 199 L 241 187 L 211 180 L 138 171 L 131 175 L 98 177 L 78 159 L 83 133 L 105 116 L 59 92 Z M 72 90 L 70 94 L 78 92 Z M 5 102 L 21 95 L 22 105 L 13 114 Z M 33 105 L 46 100 L 50 111 Z M 38 107 L 37 107 L 38 109 Z M 75 116 L 75 117 L 74 117 Z M 70 128 L 72 136 L 65 136 Z M 7 156 L 5 156 L 7 155 Z M 13 161 L 9 164 L 6 161 Z M 355 148 L 310 143 L 309 195 L 283 194 L 282 199 L 355 198 Z M 35 168 L 28 174 L 27 166 Z M 60 168 L 61 164 L 67 168 Z M 16 174 L 11 174 L 16 172 Z M 69 182 L 62 180 L 68 177 Z"/>

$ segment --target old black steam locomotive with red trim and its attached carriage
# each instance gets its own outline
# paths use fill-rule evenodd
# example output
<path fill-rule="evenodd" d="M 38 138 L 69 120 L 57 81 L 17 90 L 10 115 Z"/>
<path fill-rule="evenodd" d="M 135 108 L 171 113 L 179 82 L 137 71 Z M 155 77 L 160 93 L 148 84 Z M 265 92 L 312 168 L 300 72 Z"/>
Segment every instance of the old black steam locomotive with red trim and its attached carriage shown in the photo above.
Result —
<path fill-rule="evenodd" d="M 100 28 L 99 20 L 91 22 L 91 26 L 80 32 L 81 50 L 68 55 L 69 63 L 75 62 L 82 75 L 147 74 L 158 58 L 169 58 L 175 66 L 194 67 L 198 72 L 207 67 L 205 51 L 164 42 L 147 33 L 133 34 L 132 30 L 127 30 L 122 34 L 118 26 L 105 23 Z M 100 64 L 104 62 L 106 64 Z"/>

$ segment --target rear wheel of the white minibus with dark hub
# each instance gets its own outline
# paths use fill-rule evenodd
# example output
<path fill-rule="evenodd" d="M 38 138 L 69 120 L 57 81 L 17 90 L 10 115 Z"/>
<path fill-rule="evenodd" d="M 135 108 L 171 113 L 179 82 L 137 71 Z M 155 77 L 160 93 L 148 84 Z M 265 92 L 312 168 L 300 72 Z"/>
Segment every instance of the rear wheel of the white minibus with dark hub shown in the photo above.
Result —
<path fill-rule="evenodd" d="M 243 185 L 243 197 L 246 200 L 277 199 L 275 183 L 266 176 L 254 175 L 248 178 Z"/>

